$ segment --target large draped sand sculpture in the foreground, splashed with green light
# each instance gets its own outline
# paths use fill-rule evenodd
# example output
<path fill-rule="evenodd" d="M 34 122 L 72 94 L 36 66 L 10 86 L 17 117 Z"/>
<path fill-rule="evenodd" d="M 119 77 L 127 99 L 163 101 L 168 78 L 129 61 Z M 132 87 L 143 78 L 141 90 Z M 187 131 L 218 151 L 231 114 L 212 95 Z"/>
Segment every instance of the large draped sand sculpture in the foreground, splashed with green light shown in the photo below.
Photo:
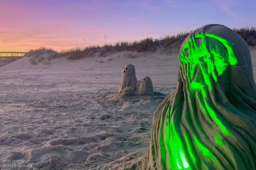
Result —
<path fill-rule="evenodd" d="M 151 169 L 256 169 L 256 86 L 245 40 L 223 25 L 181 45 L 178 85 L 153 116 Z"/>

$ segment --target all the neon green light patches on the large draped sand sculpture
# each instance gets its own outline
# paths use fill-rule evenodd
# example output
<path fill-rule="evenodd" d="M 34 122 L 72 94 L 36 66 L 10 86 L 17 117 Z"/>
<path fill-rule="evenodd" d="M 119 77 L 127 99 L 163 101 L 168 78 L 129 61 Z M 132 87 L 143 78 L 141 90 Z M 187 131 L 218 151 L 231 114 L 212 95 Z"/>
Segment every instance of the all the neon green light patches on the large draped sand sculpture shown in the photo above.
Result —
<path fill-rule="evenodd" d="M 222 46 L 218 46 L 218 43 L 212 46 L 210 43 L 206 43 L 206 38 L 213 39 L 215 42 L 217 41 L 219 44 L 222 44 Z M 222 52 L 223 48 L 228 54 Z M 207 102 L 208 92 L 213 89 L 213 81 L 217 82 L 218 77 L 224 73 L 227 67 L 237 65 L 237 58 L 234 55 L 231 43 L 214 34 L 200 33 L 187 40 L 179 57 L 180 65 L 185 68 L 183 70 L 183 76 L 188 82 L 190 92 L 195 93 L 198 91 L 202 94 L 203 98 L 199 100 L 202 111 L 217 124 L 223 134 L 233 136 L 220 119 L 217 118 L 214 110 Z M 194 79 L 194 74 L 198 67 L 203 76 L 200 77 L 199 80 Z M 197 157 L 192 152 L 192 143 L 189 143 L 191 140 L 188 139 L 188 134 L 186 134 L 186 132 L 184 134 L 184 142 L 186 143 L 186 146 L 182 145 L 182 138 L 179 137 L 178 132 L 175 130 L 177 127 L 175 127 L 173 120 L 171 119 L 172 113 L 173 108 L 171 110 L 168 108 L 166 114 L 167 119 L 165 122 L 165 135 L 161 136 L 161 141 L 164 140 L 167 153 L 166 151 L 161 151 L 162 162 L 168 158 L 167 166 L 170 169 L 191 169 L 192 167 L 190 167 L 189 164 L 196 165 L 196 161 L 200 160 L 196 160 Z M 161 126 L 163 126 L 162 121 Z M 161 132 L 163 132 L 163 128 L 161 128 Z M 224 143 L 221 142 L 220 138 L 221 135 L 217 134 L 215 143 L 226 150 L 227 148 L 224 146 Z M 198 140 L 196 135 L 193 135 L 191 139 L 195 141 L 195 145 L 206 160 L 220 165 L 219 160 L 200 142 L 200 140 Z M 164 146 L 162 147 L 164 148 Z M 188 156 L 192 162 L 187 159 Z"/>

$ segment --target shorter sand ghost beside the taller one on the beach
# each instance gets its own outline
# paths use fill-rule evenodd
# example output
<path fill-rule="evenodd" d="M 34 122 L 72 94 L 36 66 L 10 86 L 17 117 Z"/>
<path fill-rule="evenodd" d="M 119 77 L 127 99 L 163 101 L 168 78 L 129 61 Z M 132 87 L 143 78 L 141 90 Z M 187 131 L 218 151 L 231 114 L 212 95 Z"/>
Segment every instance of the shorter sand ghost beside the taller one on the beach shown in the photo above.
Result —
<path fill-rule="evenodd" d="M 139 81 L 139 85 L 137 84 L 137 87 L 139 86 L 137 90 L 138 94 L 143 94 L 143 95 L 151 95 L 154 94 L 153 91 L 153 84 L 150 79 L 150 77 L 146 76 Z"/>

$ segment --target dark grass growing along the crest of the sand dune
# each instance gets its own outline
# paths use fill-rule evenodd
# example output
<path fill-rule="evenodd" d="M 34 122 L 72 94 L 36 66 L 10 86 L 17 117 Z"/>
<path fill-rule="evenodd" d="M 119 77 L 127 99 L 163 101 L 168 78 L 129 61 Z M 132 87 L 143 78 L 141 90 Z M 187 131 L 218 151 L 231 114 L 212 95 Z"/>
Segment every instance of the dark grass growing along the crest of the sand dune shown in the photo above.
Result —
<path fill-rule="evenodd" d="M 256 46 L 256 27 L 246 28 L 234 28 L 235 32 L 242 36 L 249 46 Z M 136 51 L 136 52 L 153 52 L 156 49 L 163 47 L 164 52 L 178 52 L 178 47 L 189 35 L 190 32 L 181 32 L 177 35 L 166 35 L 162 38 L 153 39 L 151 37 L 145 38 L 140 41 L 117 42 L 115 45 L 106 44 L 104 46 L 87 46 L 74 49 L 63 50 L 56 52 L 51 49 L 39 49 L 47 50 L 52 53 L 49 59 L 67 57 L 67 59 L 81 59 L 86 57 L 92 57 L 95 53 L 99 53 L 99 56 L 106 56 L 106 54 L 120 52 L 120 51 Z"/>

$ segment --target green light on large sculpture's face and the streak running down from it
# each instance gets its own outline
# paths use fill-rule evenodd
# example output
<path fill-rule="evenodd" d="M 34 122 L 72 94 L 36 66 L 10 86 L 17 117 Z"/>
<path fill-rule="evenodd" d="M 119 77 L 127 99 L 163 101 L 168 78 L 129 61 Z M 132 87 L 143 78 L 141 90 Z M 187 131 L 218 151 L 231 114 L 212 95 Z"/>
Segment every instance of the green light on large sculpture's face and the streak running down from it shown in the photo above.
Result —
<path fill-rule="evenodd" d="M 225 55 L 222 53 L 221 46 L 212 47 L 211 44 L 206 46 L 206 38 L 212 38 L 214 40 L 219 41 L 223 44 L 226 51 L 228 51 L 228 57 L 224 57 Z M 196 44 L 196 40 L 201 40 L 199 42 L 200 45 Z M 220 38 L 214 34 L 198 34 L 195 35 L 195 38 L 189 38 L 184 45 L 184 48 L 180 53 L 180 64 L 184 65 L 187 69 L 187 79 L 189 83 L 189 88 L 191 92 L 200 91 L 203 95 L 203 102 L 200 101 L 200 106 L 203 108 L 205 106 L 207 112 L 206 114 L 214 120 L 214 122 L 220 127 L 220 130 L 228 136 L 231 136 L 230 132 L 225 128 L 222 122 L 217 118 L 214 111 L 207 103 L 207 87 L 212 90 L 212 78 L 217 82 L 217 76 L 215 70 L 217 71 L 218 76 L 221 76 L 223 72 L 226 70 L 228 65 L 234 66 L 237 65 L 237 58 L 234 55 L 234 52 L 229 46 L 228 41 L 224 38 Z M 193 80 L 194 72 L 197 67 L 200 67 L 200 70 L 203 74 L 203 80 Z M 212 78 L 210 77 L 212 76 Z"/>

